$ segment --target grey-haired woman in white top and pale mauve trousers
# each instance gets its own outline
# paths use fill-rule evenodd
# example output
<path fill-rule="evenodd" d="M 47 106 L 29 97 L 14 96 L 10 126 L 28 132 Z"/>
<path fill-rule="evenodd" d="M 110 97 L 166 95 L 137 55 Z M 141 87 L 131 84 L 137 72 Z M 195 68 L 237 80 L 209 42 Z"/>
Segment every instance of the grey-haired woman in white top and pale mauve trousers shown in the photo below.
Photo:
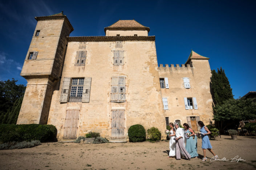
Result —
<path fill-rule="evenodd" d="M 176 132 L 175 132 L 175 135 L 176 135 L 176 137 L 175 137 L 176 160 L 180 160 L 180 151 L 184 154 L 184 156 L 187 158 L 187 160 L 190 160 L 191 155 L 185 149 L 184 140 L 186 140 L 186 138 L 185 138 L 185 134 L 184 134 L 184 129 L 180 128 L 178 123 L 175 123 L 174 126 L 176 128 Z"/>

